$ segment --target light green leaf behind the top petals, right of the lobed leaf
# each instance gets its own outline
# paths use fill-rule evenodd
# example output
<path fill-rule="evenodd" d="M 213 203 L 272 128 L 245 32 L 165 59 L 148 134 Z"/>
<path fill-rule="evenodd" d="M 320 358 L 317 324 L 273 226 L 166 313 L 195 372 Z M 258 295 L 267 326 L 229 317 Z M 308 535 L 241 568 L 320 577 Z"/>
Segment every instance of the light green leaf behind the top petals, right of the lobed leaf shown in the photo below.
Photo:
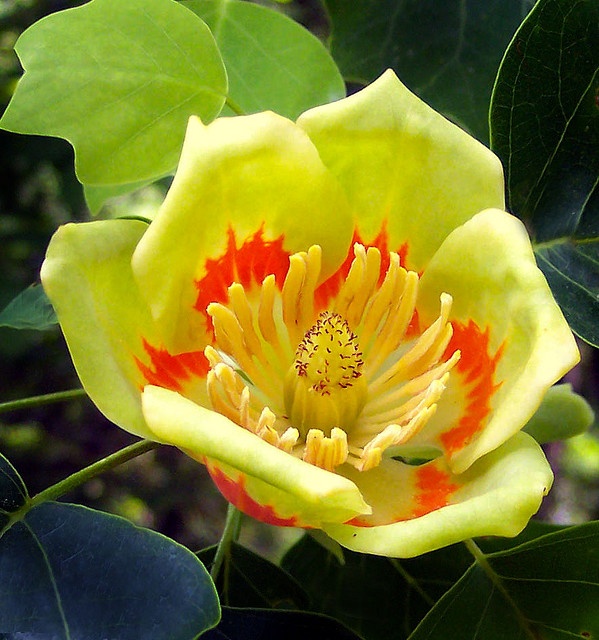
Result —
<path fill-rule="evenodd" d="M 324 45 L 287 16 L 251 2 L 182 2 L 211 28 L 227 68 L 229 95 L 246 113 L 272 110 L 291 119 L 345 96 Z"/>

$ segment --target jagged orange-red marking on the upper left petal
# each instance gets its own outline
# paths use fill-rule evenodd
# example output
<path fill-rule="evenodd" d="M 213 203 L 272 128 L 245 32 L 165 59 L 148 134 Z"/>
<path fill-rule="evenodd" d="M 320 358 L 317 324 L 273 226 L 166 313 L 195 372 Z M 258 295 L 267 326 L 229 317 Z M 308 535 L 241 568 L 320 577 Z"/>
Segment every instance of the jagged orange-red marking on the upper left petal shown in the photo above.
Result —
<path fill-rule="evenodd" d="M 264 224 L 237 246 L 235 231 L 227 230 L 227 248 L 218 258 L 209 258 L 204 264 L 204 275 L 196 280 L 198 297 L 194 309 L 206 313 L 211 302 L 227 303 L 228 288 L 238 282 L 247 290 L 254 284 L 262 284 L 266 276 L 273 274 L 279 288 L 289 269 L 289 251 L 283 249 L 285 237 L 274 240 L 264 238 Z"/>

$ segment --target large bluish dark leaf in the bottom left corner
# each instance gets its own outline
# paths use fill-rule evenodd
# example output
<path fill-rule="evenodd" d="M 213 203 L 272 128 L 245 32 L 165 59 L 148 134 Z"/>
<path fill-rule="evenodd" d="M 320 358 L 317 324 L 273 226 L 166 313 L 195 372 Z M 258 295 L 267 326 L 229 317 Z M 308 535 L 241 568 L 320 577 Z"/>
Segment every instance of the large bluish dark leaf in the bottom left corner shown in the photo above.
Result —
<path fill-rule="evenodd" d="M 46 502 L 0 538 L 0 634 L 193 640 L 219 620 L 200 561 L 123 518 Z"/>

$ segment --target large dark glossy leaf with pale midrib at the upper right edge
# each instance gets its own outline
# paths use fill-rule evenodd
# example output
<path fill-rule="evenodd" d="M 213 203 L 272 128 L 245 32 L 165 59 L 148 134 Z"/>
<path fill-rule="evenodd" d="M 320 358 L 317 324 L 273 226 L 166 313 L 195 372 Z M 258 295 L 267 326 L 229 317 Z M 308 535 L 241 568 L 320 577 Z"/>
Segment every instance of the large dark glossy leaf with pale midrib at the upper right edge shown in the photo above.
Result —
<path fill-rule="evenodd" d="M 599 346 L 599 4 L 540 0 L 501 64 L 491 143 L 573 331 Z"/>

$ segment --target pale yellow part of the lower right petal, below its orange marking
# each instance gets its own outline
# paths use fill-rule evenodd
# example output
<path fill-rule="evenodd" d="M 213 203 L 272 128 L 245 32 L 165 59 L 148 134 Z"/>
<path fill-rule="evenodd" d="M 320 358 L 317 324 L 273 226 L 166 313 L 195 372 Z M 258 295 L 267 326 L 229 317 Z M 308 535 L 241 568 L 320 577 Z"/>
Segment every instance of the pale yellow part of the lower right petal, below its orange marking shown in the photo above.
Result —
<path fill-rule="evenodd" d="M 477 536 L 512 537 L 538 511 L 553 475 L 539 445 L 520 433 L 454 479 L 460 488 L 451 503 L 419 518 L 384 526 L 333 524 L 323 529 L 354 551 L 400 558 Z M 376 513 L 376 504 L 372 506 Z"/>

